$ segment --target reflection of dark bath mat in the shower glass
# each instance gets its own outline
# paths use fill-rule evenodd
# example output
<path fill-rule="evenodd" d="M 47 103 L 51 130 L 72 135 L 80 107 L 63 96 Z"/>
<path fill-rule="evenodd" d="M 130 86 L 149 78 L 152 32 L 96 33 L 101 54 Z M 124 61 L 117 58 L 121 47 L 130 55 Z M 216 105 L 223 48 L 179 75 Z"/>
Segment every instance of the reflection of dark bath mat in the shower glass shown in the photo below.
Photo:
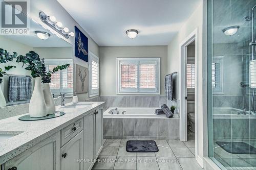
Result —
<path fill-rule="evenodd" d="M 256 154 L 256 148 L 245 142 L 217 141 L 216 143 L 231 154 Z"/>

